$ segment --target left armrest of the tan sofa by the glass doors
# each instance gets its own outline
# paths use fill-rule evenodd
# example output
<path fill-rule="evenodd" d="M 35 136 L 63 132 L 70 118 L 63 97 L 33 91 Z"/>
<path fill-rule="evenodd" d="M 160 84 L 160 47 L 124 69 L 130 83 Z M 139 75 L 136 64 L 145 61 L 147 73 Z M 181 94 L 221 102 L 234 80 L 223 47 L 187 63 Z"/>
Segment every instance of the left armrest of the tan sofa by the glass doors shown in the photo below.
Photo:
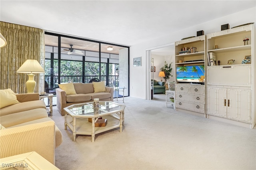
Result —
<path fill-rule="evenodd" d="M 64 107 L 67 106 L 66 92 L 56 88 L 56 106 L 61 115 L 65 115 Z"/>

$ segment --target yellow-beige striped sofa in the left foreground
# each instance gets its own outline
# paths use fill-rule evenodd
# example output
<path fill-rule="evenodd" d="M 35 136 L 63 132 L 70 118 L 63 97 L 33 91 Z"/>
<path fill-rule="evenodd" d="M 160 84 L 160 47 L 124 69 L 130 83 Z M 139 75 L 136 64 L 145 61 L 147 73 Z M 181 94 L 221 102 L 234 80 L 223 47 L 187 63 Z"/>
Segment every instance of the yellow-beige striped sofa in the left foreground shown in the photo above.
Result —
<path fill-rule="evenodd" d="M 35 151 L 55 164 L 62 133 L 48 117 L 39 94 L 16 94 L 20 103 L 0 109 L 0 158 Z"/>

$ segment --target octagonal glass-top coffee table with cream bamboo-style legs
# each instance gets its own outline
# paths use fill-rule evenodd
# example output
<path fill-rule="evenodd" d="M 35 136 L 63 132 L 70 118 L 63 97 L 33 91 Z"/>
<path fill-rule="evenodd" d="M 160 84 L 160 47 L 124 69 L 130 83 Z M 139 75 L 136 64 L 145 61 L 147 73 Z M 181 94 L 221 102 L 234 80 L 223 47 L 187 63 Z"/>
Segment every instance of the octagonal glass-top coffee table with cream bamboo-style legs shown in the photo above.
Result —
<path fill-rule="evenodd" d="M 73 141 L 76 141 L 76 135 L 92 135 L 92 142 L 94 142 L 95 134 L 117 127 L 122 132 L 125 106 L 114 102 L 100 101 L 99 104 L 98 108 L 93 107 L 93 102 L 73 104 L 64 108 L 65 130 L 67 126 L 72 130 Z M 107 119 L 106 126 L 95 127 L 99 118 Z"/>

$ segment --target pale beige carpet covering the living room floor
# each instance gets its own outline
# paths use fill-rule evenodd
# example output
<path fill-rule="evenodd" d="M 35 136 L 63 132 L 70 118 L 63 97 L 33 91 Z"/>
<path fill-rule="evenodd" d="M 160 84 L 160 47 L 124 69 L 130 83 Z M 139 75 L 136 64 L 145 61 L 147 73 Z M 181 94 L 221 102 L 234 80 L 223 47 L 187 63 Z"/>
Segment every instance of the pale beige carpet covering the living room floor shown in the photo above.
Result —
<path fill-rule="evenodd" d="M 54 106 L 52 119 L 63 135 L 55 165 L 61 170 L 256 169 L 255 128 L 175 111 L 165 107 L 165 95 L 124 100 L 123 132 L 117 128 L 97 134 L 94 143 L 89 135 L 73 142 Z"/>

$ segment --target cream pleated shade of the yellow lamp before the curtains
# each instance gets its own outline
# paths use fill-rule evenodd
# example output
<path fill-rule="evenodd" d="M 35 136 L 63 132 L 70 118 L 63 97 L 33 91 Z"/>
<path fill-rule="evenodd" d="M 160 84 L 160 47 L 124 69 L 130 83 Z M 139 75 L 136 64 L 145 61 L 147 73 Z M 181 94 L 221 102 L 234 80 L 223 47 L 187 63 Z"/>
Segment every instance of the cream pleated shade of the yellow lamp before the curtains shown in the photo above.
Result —
<path fill-rule="evenodd" d="M 28 59 L 20 66 L 17 72 L 21 73 L 44 73 L 44 68 L 38 63 L 37 60 Z"/>

